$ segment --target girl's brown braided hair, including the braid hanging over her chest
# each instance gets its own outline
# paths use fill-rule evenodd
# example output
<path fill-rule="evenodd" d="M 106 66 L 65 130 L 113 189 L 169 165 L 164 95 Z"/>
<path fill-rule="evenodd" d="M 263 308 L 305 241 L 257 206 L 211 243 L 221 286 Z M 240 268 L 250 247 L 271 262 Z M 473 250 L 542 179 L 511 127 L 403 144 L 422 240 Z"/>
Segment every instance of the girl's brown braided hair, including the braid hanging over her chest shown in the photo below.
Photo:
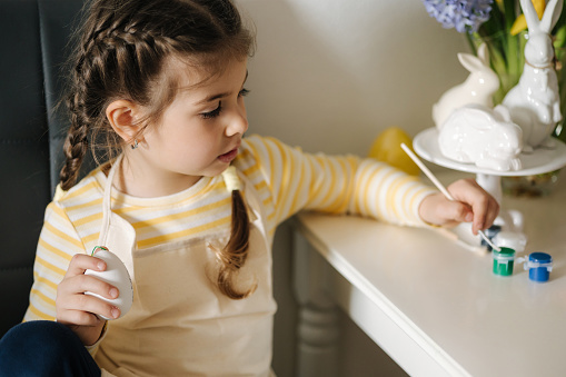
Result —
<path fill-rule="evenodd" d="M 149 109 L 140 125 L 157 121 L 179 88 L 167 77 L 172 58 L 210 77 L 222 63 L 254 53 L 252 32 L 245 28 L 230 0 L 93 0 L 78 30 L 66 105 L 71 125 L 64 141 L 63 190 L 77 181 L 89 147 L 98 163 L 123 147 L 107 118 L 106 108 L 128 99 Z M 97 150 L 105 153 L 100 159 Z M 231 276 L 248 254 L 249 219 L 239 191 L 232 194 L 232 232 L 218 251 L 217 285 L 230 298 L 244 298 L 231 287 Z"/>

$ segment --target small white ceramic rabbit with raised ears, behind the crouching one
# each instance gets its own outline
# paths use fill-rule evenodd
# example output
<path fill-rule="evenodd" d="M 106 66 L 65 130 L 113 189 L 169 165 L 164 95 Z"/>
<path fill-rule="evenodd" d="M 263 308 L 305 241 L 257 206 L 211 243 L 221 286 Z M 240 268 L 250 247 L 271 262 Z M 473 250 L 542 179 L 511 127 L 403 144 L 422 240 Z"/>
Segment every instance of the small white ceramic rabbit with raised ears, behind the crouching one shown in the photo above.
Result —
<path fill-rule="evenodd" d="M 438 129 L 455 109 L 478 103 L 493 108 L 493 95 L 499 88 L 499 78 L 489 67 L 489 51 L 481 43 L 477 57 L 470 53 L 458 53 L 458 60 L 470 73 L 466 81 L 448 89 L 433 106 L 433 120 Z"/>

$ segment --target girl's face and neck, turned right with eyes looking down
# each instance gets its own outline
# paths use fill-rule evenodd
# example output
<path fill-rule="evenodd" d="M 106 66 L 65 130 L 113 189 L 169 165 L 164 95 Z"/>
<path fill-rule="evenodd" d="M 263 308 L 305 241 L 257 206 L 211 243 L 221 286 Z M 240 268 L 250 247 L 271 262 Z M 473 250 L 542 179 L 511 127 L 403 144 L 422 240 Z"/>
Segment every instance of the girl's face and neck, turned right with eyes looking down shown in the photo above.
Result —
<path fill-rule="evenodd" d="M 125 169 L 123 175 L 130 195 L 170 195 L 202 176 L 221 173 L 236 158 L 248 129 L 244 105 L 246 59 L 232 61 L 221 75 L 192 88 L 191 83 L 202 77 L 185 65 L 172 67 L 179 70 L 181 90 L 160 123 L 146 128 L 140 147 L 127 153 L 131 169 Z"/>

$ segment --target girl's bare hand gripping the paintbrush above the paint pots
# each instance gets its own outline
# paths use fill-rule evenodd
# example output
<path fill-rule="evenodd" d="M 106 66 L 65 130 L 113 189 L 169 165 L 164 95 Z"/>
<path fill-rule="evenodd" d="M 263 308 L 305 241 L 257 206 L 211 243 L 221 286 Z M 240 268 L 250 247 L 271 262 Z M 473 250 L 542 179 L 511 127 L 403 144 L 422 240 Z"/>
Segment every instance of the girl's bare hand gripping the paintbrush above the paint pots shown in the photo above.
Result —
<path fill-rule="evenodd" d="M 423 200 L 419 215 L 424 221 L 439 226 L 473 222 L 474 235 L 494 224 L 499 214 L 499 205 L 474 179 L 457 180 L 448 186 L 447 190 L 454 197 L 454 201 L 440 192 Z"/>

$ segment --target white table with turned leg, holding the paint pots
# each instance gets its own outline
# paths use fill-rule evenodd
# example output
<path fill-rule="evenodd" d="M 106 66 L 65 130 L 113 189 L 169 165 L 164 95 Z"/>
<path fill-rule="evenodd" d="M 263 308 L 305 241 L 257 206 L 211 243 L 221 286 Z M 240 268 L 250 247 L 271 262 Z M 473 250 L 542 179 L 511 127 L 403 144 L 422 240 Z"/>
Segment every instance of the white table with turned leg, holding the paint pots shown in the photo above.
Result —
<path fill-rule="evenodd" d="M 339 306 L 411 376 L 565 376 L 566 175 L 549 197 L 504 205 L 526 216 L 525 254 L 553 256 L 549 281 L 522 265 L 496 276 L 490 254 L 434 229 L 300 214 L 298 375 L 337 375 Z"/>

